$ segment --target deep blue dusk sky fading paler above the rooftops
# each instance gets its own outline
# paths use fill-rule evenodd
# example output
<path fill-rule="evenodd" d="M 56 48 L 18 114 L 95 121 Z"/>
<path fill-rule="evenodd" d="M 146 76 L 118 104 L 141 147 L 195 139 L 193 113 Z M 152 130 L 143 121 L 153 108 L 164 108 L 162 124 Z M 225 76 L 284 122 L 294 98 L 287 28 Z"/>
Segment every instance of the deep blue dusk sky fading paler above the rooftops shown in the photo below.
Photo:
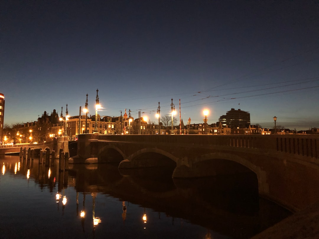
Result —
<path fill-rule="evenodd" d="M 1 1 L 4 124 L 66 104 L 184 123 L 231 108 L 251 124 L 319 127 L 319 1 Z M 177 116 L 179 121 L 179 115 Z"/>

